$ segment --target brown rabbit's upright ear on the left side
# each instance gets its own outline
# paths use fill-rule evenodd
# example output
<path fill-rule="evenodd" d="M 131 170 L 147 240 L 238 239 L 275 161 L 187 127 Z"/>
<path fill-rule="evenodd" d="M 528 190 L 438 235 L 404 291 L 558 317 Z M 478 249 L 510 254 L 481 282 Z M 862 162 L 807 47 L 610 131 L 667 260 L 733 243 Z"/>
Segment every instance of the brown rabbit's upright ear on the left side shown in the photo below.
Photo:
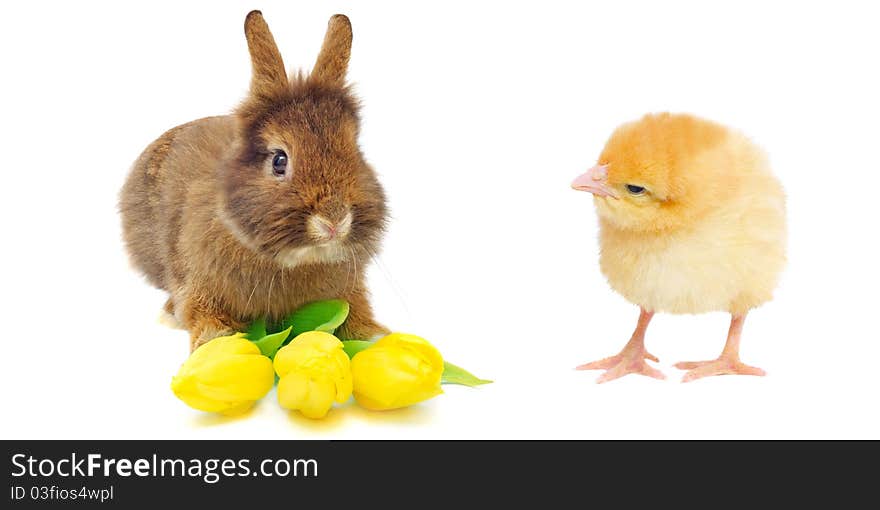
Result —
<path fill-rule="evenodd" d="M 251 11 L 244 20 L 244 34 L 251 54 L 253 76 L 251 94 L 272 98 L 287 88 L 287 75 L 275 38 L 260 11 Z"/>

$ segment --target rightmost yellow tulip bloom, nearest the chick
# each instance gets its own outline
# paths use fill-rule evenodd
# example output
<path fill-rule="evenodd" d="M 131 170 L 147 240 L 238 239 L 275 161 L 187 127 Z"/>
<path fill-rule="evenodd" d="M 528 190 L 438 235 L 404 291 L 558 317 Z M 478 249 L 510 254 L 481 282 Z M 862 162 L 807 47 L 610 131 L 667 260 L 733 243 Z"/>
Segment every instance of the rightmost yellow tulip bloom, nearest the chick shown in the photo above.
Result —
<path fill-rule="evenodd" d="M 376 411 L 413 405 L 443 393 L 443 357 L 427 340 L 392 333 L 351 360 L 354 398 Z"/>

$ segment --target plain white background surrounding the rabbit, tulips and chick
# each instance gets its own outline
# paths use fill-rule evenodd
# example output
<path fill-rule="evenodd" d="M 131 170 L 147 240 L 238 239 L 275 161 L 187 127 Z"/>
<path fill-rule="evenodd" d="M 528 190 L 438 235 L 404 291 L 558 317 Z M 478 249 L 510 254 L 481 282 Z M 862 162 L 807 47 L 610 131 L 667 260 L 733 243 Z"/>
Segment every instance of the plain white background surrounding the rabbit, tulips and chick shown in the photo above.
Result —
<path fill-rule="evenodd" d="M 25 6 L 26 5 L 26 6 Z M 362 146 L 393 221 L 380 320 L 495 384 L 324 421 L 193 411 L 187 335 L 130 267 L 116 198 L 164 130 L 229 112 L 260 8 L 289 70 L 349 15 Z M 2 52 L 3 438 L 880 438 L 878 16 L 870 2 L 15 2 Z M 638 311 L 569 189 L 618 124 L 692 112 L 749 134 L 789 196 L 790 264 L 743 358 L 766 378 L 680 384 L 728 317 L 658 315 L 669 376 L 594 383 Z"/>

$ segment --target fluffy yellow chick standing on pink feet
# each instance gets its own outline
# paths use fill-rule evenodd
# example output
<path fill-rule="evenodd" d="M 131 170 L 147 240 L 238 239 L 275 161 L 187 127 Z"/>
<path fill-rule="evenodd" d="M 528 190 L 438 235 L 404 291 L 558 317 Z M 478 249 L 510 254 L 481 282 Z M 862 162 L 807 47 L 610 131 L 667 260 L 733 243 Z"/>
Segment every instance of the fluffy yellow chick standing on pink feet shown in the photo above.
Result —
<path fill-rule="evenodd" d="M 745 136 L 690 115 L 652 114 L 619 127 L 598 164 L 572 183 L 593 194 L 599 265 L 611 287 L 641 307 L 623 350 L 578 367 L 598 382 L 630 373 L 662 379 L 646 363 L 655 312 L 731 314 L 721 355 L 682 362 L 684 382 L 764 375 L 744 364 L 746 314 L 772 298 L 785 265 L 785 194 L 764 153 Z"/>

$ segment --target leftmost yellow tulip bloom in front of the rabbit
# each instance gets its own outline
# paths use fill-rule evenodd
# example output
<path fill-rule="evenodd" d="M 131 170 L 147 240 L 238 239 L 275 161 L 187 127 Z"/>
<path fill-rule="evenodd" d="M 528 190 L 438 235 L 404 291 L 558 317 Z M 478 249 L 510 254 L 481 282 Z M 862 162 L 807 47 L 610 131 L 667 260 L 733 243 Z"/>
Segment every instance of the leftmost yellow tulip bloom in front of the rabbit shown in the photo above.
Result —
<path fill-rule="evenodd" d="M 237 333 L 196 349 L 171 380 L 171 390 L 194 409 L 237 414 L 250 409 L 274 384 L 272 360 Z"/>

